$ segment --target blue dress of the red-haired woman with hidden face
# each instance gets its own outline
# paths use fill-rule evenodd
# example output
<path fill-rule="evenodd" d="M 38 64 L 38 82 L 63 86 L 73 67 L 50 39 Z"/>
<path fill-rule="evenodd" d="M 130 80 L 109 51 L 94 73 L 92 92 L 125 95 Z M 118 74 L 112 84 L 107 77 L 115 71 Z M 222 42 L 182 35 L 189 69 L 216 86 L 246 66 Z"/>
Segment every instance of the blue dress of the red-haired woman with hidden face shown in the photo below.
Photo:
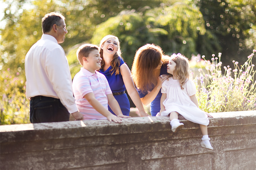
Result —
<path fill-rule="evenodd" d="M 160 69 L 160 75 L 162 75 L 162 74 L 167 74 L 167 75 L 169 74 L 169 73 L 167 73 L 167 64 L 162 65 L 162 67 Z M 153 90 L 153 89 L 148 89 L 148 92 L 150 92 L 151 90 Z M 148 94 L 148 92 L 142 93 L 139 89 L 137 89 L 137 91 L 139 93 L 140 98 L 143 98 Z M 151 116 L 156 116 L 156 114 L 160 111 L 161 96 L 162 96 L 162 93 L 161 93 L 161 89 L 160 89 L 158 94 L 156 95 L 156 98 L 150 103 Z"/>

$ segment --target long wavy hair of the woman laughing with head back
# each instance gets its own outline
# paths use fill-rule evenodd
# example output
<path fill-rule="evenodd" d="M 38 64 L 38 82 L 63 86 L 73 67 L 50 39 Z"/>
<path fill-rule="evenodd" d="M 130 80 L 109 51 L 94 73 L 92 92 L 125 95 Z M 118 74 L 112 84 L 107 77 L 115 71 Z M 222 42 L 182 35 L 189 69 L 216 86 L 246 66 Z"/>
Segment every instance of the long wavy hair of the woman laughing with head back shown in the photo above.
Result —
<path fill-rule="evenodd" d="M 120 42 L 118 37 L 114 36 L 114 35 L 106 35 L 105 37 L 102 38 L 102 40 L 100 41 L 100 58 L 102 58 L 101 63 L 100 63 L 100 68 L 103 69 L 105 66 L 105 61 L 103 59 L 103 49 L 101 49 L 101 46 L 109 39 L 109 38 L 114 38 L 117 40 L 117 52 L 114 54 L 113 59 L 110 62 L 110 66 L 112 66 L 111 70 L 110 70 L 110 74 L 112 75 L 114 73 L 114 71 L 116 71 L 115 75 L 118 75 L 120 73 L 119 70 L 119 66 L 120 66 L 120 61 L 118 59 L 118 57 L 121 57 L 121 49 L 120 49 Z M 123 59 L 123 58 L 122 58 Z"/>

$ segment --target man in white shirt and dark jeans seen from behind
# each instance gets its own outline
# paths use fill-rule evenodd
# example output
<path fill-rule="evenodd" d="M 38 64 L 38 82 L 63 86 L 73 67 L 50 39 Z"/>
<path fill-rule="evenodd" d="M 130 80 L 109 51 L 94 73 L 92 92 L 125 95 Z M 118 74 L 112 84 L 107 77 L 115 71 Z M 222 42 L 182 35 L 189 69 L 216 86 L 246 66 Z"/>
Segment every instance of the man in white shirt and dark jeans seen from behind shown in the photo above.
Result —
<path fill-rule="evenodd" d="M 69 121 L 83 116 L 75 104 L 68 60 L 59 43 L 64 42 L 65 18 L 48 13 L 42 19 L 43 35 L 25 57 L 26 97 L 30 98 L 30 122 Z"/>

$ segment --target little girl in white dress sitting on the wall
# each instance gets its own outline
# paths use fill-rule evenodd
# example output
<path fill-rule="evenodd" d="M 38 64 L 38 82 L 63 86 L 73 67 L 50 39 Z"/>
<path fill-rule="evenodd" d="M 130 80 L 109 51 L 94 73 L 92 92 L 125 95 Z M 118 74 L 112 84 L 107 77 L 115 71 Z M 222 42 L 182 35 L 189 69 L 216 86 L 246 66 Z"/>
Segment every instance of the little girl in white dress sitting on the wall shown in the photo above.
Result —
<path fill-rule="evenodd" d="M 194 82 L 189 79 L 188 59 L 181 54 L 173 54 L 167 65 L 167 73 L 170 75 L 162 84 L 161 110 L 158 115 L 170 115 L 173 132 L 177 132 L 184 125 L 179 122 L 178 114 L 198 123 L 203 134 L 201 147 L 213 150 L 207 132 L 207 116 L 212 116 L 198 108 L 196 88 Z"/>

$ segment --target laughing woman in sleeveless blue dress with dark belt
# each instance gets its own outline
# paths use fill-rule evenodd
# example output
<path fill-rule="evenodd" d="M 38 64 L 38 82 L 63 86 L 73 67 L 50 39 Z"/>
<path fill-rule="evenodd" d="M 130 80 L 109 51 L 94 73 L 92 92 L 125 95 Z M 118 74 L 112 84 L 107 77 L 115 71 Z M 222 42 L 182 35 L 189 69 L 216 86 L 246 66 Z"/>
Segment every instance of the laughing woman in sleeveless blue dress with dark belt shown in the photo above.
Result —
<path fill-rule="evenodd" d="M 100 41 L 100 57 L 102 60 L 99 71 L 106 76 L 123 115 L 129 116 L 130 112 L 130 103 L 125 94 L 125 89 L 127 89 L 129 96 L 139 110 L 140 116 L 148 116 L 134 86 L 130 69 L 121 57 L 119 39 L 116 36 L 107 35 Z M 114 114 L 110 107 L 109 111 Z"/>

